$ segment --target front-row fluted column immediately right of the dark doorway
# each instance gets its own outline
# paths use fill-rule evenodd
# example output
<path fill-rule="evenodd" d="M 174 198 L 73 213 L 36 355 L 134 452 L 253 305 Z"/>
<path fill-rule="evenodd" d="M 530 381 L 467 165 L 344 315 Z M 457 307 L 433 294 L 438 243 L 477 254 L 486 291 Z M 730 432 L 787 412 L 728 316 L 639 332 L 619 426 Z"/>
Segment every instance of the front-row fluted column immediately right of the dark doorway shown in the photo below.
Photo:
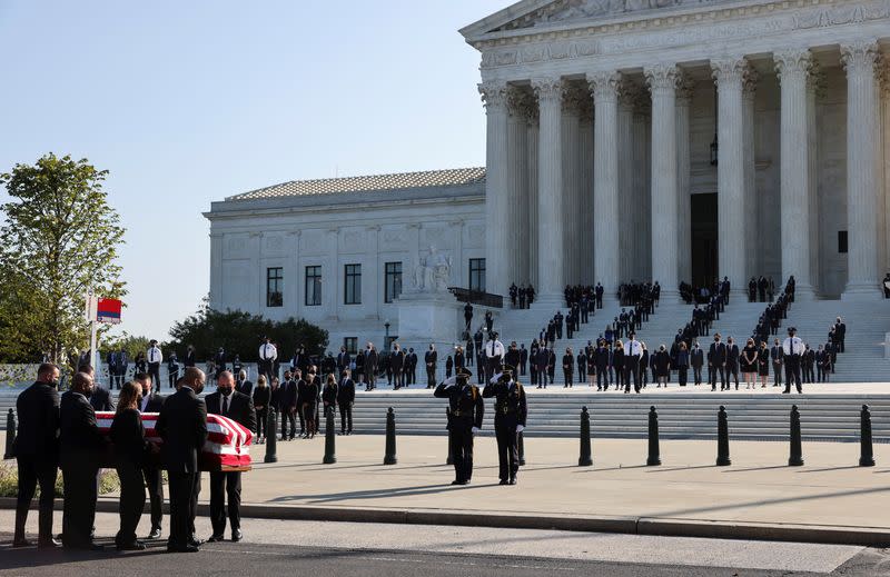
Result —
<path fill-rule="evenodd" d="M 718 86 L 718 255 L 720 279 L 729 278 L 733 294 L 743 294 L 745 250 L 744 140 L 742 129 L 742 81 L 749 71 L 744 58 L 711 60 Z"/>

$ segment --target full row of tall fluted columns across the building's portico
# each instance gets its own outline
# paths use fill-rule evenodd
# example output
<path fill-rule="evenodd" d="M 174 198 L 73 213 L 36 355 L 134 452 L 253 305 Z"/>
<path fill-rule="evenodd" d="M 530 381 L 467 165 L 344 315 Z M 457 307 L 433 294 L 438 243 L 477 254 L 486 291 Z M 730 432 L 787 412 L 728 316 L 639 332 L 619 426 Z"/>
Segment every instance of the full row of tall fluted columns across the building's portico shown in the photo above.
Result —
<path fill-rule="evenodd" d="M 773 54 L 781 82 L 781 258 L 783 280 L 794 276 L 797 295 L 814 295 L 818 278 L 818 195 L 815 183 L 815 93 L 818 74 L 807 48 Z M 881 147 L 879 61 L 876 40 L 841 46 L 847 71 L 847 210 L 849 280 L 846 298 L 879 295 L 880 217 L 878 187 Z M 720 275 L 735 291 L 753 271 L 758 230 L 754 159 L 756 73 L 743 57 L 713 59 L 718 87 L 718 227 Z M 691 277 L 690 99 L 692 86 L 682 69 L 657 63 L 644 69 L 651 92 L 651 278 L 662 295 L 676 294 Z M 621 212 L 635 177 L 627 160 L 633 109 L 623 98 L 619 71 L 586 74 L 593 110 L 565 106 L 584 98 L 561 78 L 534 78 L 533 99 L 506 83 L 479 86 L 487 111 L 486 261 L 490 292 L 505 295 L 517 278 L 536 279 L 538 301 L 560 301 L 566 282 L 582 280 L 593 250 L 593 277 L 612 295 L 629 280 L 624 250 L 641 235 L 625 227 Z M 513 94 L 513 96 L 511 96 Z M 536 107 L 534 101 L 536 100 Z M 531 110 L 535 110 L 532 112 Z M 578 112 L 581 110 L 581 112 Z M 511 113 L 513 111 L 513 113 Z M 522 113 L 520 113 L 522 111 Z M 536 115 L 534 132 L 527 119 Z M 595 117 L 595 119 L 594 119 Z M 590 123 L 593 125 L 592 131 Z M 592 141 L 586 140 L 592 132 Z M 518 143 L 518 146 L 517 146 Z M 624 143 L 624 148 L 622 148 Z M 589 162 L 592 157 L 593 163 Z M 511 152 L 513 151 L 513 152 Z M 520 168 L 522 167 L 522 168 Z M 586 188 L 593 181 L 592 193 Z M 881 183 L 882 185 L 882 183 Z M 637 187 L 639 188 L 639 187 Z M 520 196 L 521 195 L 521 196 Z M 524 202 L 521 199 L 531 199 Z M 632 205 L 631 205 L 632 206 Z M 625 208 L 622 208 L 625 207 Z M 581 210 L 581 218 L 565 218 Z M 650 211 L 646 211 L 650 212 Z M 592 230 L 591 230 L 592 229 Z M 630 237 L 627 235 L 631 235 Z M 523 247 L 532 247 L 526 255 Z M 625 260 L 626 261 L 626 260 Z M 640 270 L 640 269 L 636 269 Z M 593 281 L 593 279 L 591 280 Z"/>

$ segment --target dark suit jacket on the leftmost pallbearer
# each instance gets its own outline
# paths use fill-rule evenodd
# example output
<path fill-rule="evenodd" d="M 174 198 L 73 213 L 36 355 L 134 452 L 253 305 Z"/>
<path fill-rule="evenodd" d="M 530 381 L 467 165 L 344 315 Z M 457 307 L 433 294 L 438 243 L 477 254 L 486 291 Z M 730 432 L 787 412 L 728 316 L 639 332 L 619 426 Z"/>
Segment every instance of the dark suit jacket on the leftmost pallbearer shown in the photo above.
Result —
<path fill-rule="evenodd" d="M 16 401 L 19 416 L 16 455 L 59 459 L 59 391 L 34 382 Z"/>

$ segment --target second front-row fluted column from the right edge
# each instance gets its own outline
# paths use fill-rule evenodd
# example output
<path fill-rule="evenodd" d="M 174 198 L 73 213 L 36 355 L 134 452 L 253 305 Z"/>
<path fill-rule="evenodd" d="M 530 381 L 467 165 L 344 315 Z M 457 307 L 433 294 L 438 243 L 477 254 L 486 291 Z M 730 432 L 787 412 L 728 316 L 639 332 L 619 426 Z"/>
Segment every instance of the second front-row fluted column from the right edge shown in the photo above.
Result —
<path fill-rule="evenodd" d="M 795 296 L 813 297 L 810 281 L 810 168 L 807 136 L 807 79 L 812 54 L 807 49 L 775 52 L 782 83 L 781 219 L 782 282 L 793 276 Z"/>

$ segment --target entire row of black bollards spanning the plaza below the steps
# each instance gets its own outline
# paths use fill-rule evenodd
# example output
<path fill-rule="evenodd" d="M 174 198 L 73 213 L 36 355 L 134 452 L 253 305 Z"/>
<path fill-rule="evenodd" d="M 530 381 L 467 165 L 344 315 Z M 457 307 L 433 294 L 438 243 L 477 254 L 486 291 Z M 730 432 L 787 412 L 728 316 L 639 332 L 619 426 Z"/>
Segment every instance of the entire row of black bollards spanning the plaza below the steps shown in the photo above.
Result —
<path fill-rule="evenodd" d="M 447 414 L 446 416 L 451 417 Z M 16 439 L 16 416 L 10 409 L 7 417 L 7 430 L 12 434 L 7 435 L 6 459 L 11 458 L 12 444 Z M 278 416 L 275 411 L 269 411 L 267 430 L 278 430 Z M 273 432 L 266 438 L 266 458 L 265 462 L 277 462 L 277 435 Z M 518 434 L 518 452 L 520 465 L 525 465 L 525 442 L 523 434 Z M 581 431 L 580 431 L 581 451 L 577 459 L 578 467 L 593 466 L 593 451 L 591 448 L 591 416 L 587 407 L 581 409 Z M 452 465 L 452 455 L 454 452 L 452 446 L 451 435 L 448 436 L 448 456 L 446 464 Z M 326 415 L 325 421 L 325 456 L 322 460 L 325 465 L 337 462 L 336 455 L 336 431 L 334 424 L 334 411 L 329 410 Z M 396 457 L 396 420 L 393 408 L 386 412 L 386 449 L 384 454 L 384 465 L 396 465 L 398 459 Z M 649 455 L 646 457 L 646 466 L 657 467 L 661 465 L 661 451 L 659 448 L 659 414 L 654 406 L 649 409 Z M 730 435 L 729 435 L 729 418 L 726 416 L 726 408 L 721 406 L 716 414 L 716 466 L 728 467 L 732 465 L 730 459 Z M 801 442 L 801 426 L 800 426 L 800 410 L 797 405 L 791 406 L 791 424 L 790 424 L 790 455 L 788 459 L 789 467 L 803 466 L 803 450 Z M 862 405 L 860 411 L 860 457 L 859 465 L 861 467 L 874 466 L 874 451 L 872 448 L 871 438 L 871 412 L 868 405 Z"/>

